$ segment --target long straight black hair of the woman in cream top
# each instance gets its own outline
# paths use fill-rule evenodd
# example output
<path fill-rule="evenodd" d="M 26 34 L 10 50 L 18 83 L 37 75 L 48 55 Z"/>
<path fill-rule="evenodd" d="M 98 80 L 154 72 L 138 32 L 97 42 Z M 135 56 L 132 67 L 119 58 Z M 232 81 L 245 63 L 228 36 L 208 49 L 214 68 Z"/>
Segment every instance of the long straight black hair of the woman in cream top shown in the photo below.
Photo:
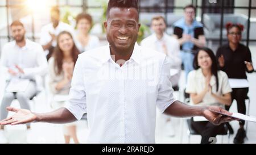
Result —
<path fill-rule="evenodd" d="M 210 70 L 211 70 L 213 76 L 216 78 L 216 83 L 217 83 L 216 90 L 218 91 L 218 64 L 217 64 L 217 60 L 216 60 L 216 57 L 215 57 L 212 49 L 209 49 L 207 47 L 200 48 L 195 55 L 195 58 L 193 61 L 193 67 L 195 69 L 200 68 L 200 66 L 198 65 L 198 55 L 199 55 L 200 51 L 207 52 L 207 54 L 210 56 L 210 59 L 212 60 L 212 67 L 210 68 Z"/>

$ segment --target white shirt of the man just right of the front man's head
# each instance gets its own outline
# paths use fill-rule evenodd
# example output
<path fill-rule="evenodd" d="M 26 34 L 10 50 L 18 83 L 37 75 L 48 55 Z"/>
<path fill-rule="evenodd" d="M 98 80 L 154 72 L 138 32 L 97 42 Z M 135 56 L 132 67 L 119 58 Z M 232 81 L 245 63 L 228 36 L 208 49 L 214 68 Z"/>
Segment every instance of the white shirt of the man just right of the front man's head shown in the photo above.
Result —
<path fill-rule="evenodd" d="M 169 59 L 171 63 L 172 69 L 177 69 L 179 72 L 171 77 L 172 85 L 178 86 L 179 85 L 179 79 L 180 79 L 180 72 L 181 72 L 181 57 L 180 57 L 180 44 L 175 37 L 169 36 L 166 33 L 164 33 L 162 39 L 158 39 L 154 34 L 146 37 L 141 42 L 142 47 L 152 48 L 155 51 L 164 53 L 167 55 L 167 58 Z M 164 52 L 165 49 L 163 48 L 163 45 L 166 46 L 167 52 Z"/>

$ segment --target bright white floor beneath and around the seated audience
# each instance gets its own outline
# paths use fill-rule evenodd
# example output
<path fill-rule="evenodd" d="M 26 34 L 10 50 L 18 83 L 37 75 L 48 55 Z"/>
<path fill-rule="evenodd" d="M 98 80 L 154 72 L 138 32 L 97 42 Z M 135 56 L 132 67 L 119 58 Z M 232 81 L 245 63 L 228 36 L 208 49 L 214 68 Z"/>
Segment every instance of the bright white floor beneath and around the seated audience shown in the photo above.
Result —
<path fill-rule="evenodd" d="M 253 54 L 253 62 L 256 63 L 256 46 L 250 47 Z M 181 76 L 184 77 L 184 76 Z M 0 99 L 2 99 L 4 81 L 0 74 Z M 250 115 L 256 116 L 256 74 L 248 74 L 250 82 L 249 97 L 250 102 Z M 181 79 L 181 87 L 184 87 L 184 79 Z M 175 93 L 179 98 L 179 93 Z M 255 96 L 254 96 L 255 95 Z M 182 97 L 180 96 L 182 100 Z M 48 112 L 51 108 L 47 104 L 44 91 L 31 102 L 32 111 L 34 112 Z M 19 107 L 17 101 L 14 101 L 12 106 Z M 236 103 L 233 103 L 230 111 L 236 112 Z M 166 116 L 162 114 L 157 115 L 156 122 L 156 143 L 188 143 L 187 127 L 184 119 L 171 118 L 171 123 L 166 123 Z M 238 122 L 231 123 L 234 128 L 234 135 L 228 139 L 228 136 L 217 136 L 217 143 L 232 143 L 238 129 Z M 171 134 L 171 129 L 174 135 Z M 86 143 L 88 136 L 88 127 L 85 120 L 77 122 L 77 135 L 80 143 Z M 256 143 L 256 123 L 249 122 L 247 137 L 245 143 Z M 191 136 L 191 143 L 200 143 L 200 136 Z M 27 130 L 25 125 L 6 126 L 5 131 L 0 131 L 0 144 L 1 143 L 64 143 L 62 125 L 47 124 L 47 123 L 33 123 L 31 129 Z M 73 141 L 72 141 L 73 143 Z"/>

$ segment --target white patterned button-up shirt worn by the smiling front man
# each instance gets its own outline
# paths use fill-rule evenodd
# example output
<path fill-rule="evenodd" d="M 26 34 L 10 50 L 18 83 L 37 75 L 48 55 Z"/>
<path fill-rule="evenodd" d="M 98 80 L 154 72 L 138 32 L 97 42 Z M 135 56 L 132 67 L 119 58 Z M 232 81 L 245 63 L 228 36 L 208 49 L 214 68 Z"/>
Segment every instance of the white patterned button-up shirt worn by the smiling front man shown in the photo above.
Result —
<path fill-rule="evenodd" d="M 155 143 L 156 106 L 164 112 L 172 93 L 165 55 L 136 44 L 120 67 L 105 46 L 79 56 L 66 108 L 87 112 L 88 143 Z"/>

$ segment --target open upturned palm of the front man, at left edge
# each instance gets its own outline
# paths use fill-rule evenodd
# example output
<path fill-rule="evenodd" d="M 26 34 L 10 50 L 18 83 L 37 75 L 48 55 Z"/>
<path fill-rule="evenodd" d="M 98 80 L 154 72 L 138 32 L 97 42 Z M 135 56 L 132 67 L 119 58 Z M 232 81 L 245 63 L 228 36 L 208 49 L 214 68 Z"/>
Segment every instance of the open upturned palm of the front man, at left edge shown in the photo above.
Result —
<path fill-rule="evenodd" d="M 0 125 L 26 124 L 36 120 L 36 115 L 29 110 L 14 107 L 7 107 L 6 109 L 7 111 L 16 112 L 16 114 L 7 119 L 1 120 Z"/>

